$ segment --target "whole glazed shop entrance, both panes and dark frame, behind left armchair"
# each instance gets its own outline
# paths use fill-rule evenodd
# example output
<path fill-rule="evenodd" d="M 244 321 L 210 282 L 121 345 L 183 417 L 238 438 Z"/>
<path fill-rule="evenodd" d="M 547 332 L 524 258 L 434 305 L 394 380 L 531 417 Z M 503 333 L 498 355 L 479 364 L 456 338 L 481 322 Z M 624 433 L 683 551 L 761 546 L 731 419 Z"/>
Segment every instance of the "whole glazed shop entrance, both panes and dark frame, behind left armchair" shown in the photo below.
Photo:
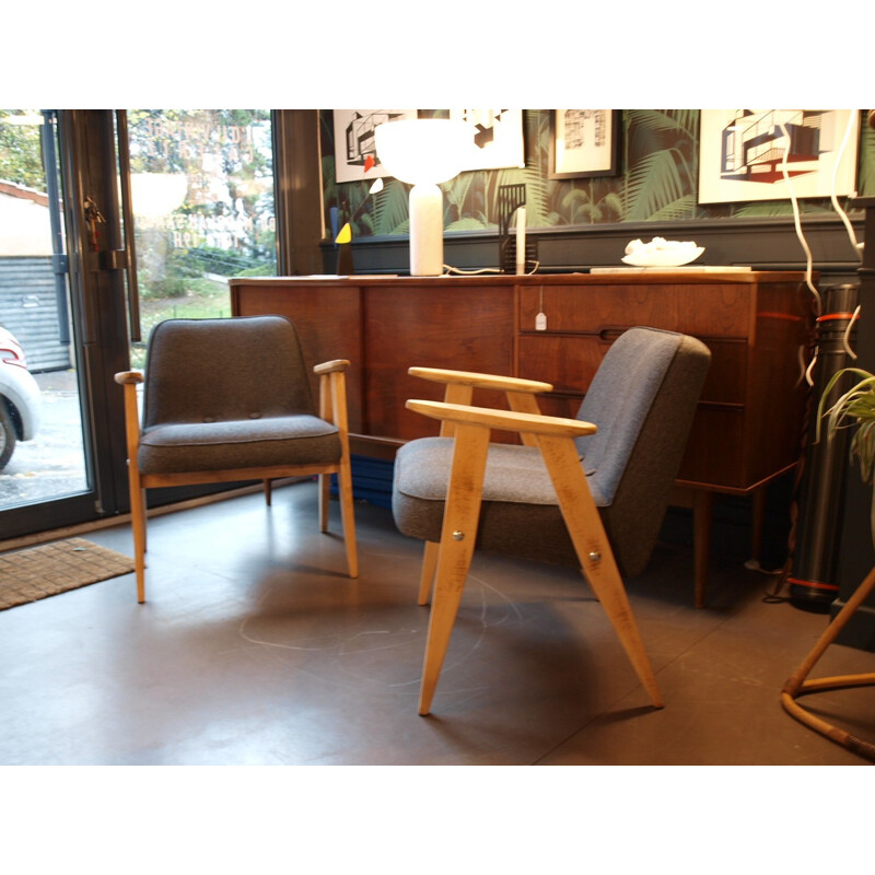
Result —
<path fill-rule="evenodd" d="M 128 510 L 114 374 L 276 252 L 269 110 L 0 110 L 0 540 Z"/>

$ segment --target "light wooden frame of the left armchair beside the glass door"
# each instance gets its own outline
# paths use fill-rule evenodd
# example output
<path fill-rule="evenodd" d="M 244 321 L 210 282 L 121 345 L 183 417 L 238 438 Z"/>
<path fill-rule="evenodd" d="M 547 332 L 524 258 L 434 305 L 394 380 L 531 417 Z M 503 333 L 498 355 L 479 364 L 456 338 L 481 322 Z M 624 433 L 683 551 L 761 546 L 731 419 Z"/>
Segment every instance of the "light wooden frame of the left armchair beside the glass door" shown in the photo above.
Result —
<path fill-rule="evenodd" d="M 130 487 L 131 528 L 133 532 L 135 567 L 137 573 L 137 600 L 145 602 L 145 490 L 154 487 L 220 483 L 262 480 L 265 501 L 271 503 L 271 480 L 284 477 L 319 478 L 319 530 L 328 530 L 330 475 L 338 477 L 340 512 L 350 578 L 359 576 L 355 548 L 355 522 L 352 509 L 352 471 L 349 454 L 349 423 L 347 418 L 346 359 L 317 364 L 313 370 L 319 378 L 319 416 L 338 429 L 341 444 L 340 460 L 331 465 L 275 465 L 270 467 L 232 468 L 223 470 L 185 471 L 180 474 L 141 474 L 137 465 L 140 447 L 140 413 L 137 386 L 143 382 L 140 371 L 122 371 L 115 375 L 125 390 L 125 431 L 128 450 L 128 482 Z"/>

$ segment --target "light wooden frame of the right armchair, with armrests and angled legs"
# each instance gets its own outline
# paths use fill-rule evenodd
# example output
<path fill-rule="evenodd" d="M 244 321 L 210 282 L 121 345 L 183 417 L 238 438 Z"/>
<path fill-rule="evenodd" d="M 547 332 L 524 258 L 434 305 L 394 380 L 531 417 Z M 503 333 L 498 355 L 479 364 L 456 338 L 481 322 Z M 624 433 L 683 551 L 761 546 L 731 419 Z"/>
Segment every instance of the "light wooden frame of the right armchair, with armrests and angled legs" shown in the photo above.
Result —
<path fill-rule="evenodd" d="M 447 383 L 447 396 L 467 398 L 476 387 L 503 389 L 510 411 L 467 402 L 411 399 L 407 408 L 441 420 L 441 434 L 454 438 L 453 462 L 439 545 L 427 544 L 420 583 L 424 604 L 434 575 L 419 713 L 428 714 L 438 685 L 462 592 L 477 540 L 482 486 L 492 429 L 515 431 L 540 450 L 559 499 L 581 571 L 607 612 L 632 667 L 655 708 L 662 708 L 656 679 L 644 650 L 599 512 L 590 492 L 574 439 L 593 434 L 588 422 L 541 416 L 534 397 L 547 383 L 468 372 L 412 368 L 409 373 Z M 432 572 L 431 563 L 434 563 Z"/>

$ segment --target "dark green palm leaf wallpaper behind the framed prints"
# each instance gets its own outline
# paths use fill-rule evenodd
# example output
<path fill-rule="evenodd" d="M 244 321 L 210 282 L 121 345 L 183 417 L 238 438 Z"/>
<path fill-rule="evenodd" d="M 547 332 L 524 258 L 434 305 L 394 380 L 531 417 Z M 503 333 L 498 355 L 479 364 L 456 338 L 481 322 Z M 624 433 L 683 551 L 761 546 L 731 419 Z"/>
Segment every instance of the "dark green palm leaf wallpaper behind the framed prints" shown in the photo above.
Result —
<path fill-rule="evenodd" d="M 423 116 L 447 110 L 420 110 Z M 561 228 L 618 222 L 682 222 L 744 217 L 791 217 L 790 201 L 700 205 L 698 109 L 623 109 L 620 173 L 611 177 L 550 179 L 550 110 L 524 113 L 526 166 L 463 173 L 445 183 L 444 228 L 498 231 L 498 190 L 525 183 L 529 228 Z M 355 215 L 357 237 L 406 234 L 408 187 L 387 178 L 383 191 L 368 199 L 369 183 L 335 180 L 331 110 L 320 112 L 325 226 L 330 208 Z M 875 195 L 875 131 L 861 125 L 858 194 Z M 803 200 L 806 213 L 833 213 L 829 199 Z"/>

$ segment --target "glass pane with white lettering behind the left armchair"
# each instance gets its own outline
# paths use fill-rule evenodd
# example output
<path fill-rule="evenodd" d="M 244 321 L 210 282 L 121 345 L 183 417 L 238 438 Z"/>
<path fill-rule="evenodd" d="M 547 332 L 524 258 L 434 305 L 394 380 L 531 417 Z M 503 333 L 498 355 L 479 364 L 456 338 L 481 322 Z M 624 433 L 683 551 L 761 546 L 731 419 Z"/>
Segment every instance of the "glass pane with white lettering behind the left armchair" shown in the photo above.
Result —
<path fill-rule="evenodd" d="M 140 320 L 130 359 L 142 368 L 160 322 L 228 317 L 230 277 L 276 276 L 271 116 L 128 109 L 119 138 L 130 171 Z"/>

